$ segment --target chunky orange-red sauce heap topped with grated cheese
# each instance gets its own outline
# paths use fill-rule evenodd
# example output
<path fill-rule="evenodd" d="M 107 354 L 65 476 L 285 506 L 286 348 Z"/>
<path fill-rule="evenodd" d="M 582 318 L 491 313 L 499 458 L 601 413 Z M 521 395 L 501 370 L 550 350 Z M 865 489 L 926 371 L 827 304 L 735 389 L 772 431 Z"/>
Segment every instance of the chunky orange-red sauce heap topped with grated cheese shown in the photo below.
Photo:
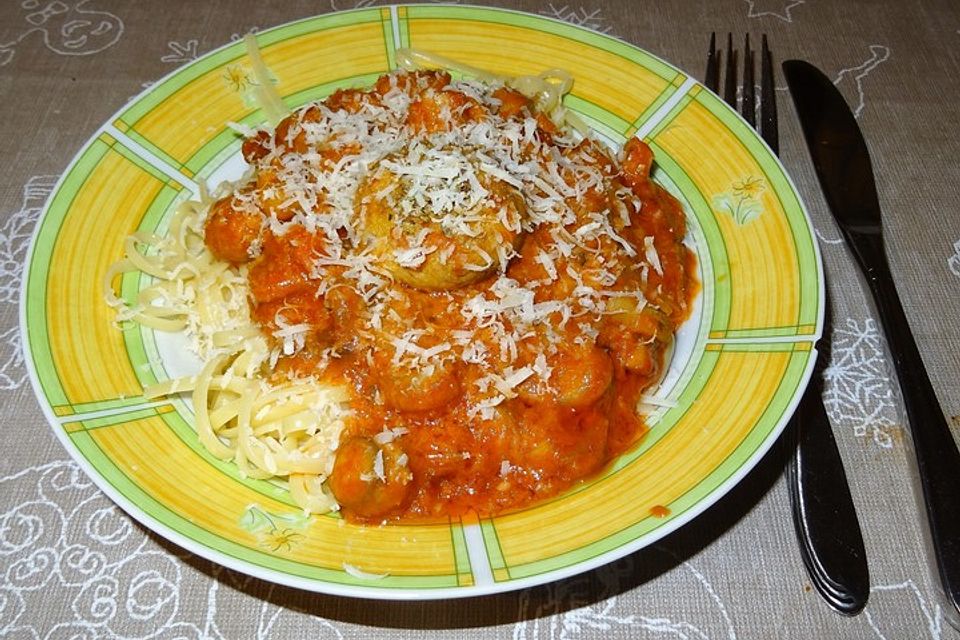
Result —
<path fill-rule="evenodd" d="M 652 153 L 506 86 L 397 72 L 248 136 L 204 233 L 275 376 L 350 389 L 328 484 L 360 522 L 522 508 L 602 469 L 697 283 Z"/>

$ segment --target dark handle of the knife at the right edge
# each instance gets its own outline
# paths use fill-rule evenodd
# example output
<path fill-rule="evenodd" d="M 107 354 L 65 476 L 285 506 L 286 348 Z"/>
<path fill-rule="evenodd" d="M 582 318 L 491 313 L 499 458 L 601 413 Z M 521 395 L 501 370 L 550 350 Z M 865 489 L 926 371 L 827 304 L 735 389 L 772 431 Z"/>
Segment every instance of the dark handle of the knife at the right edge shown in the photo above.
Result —
<path fill-rule="evenodd" d="M 960 612 L 960 451 L 927 376 L 890 274 L 883 239 L 844 230 L 877 305 L 910 423 L 940 581 Z"/>

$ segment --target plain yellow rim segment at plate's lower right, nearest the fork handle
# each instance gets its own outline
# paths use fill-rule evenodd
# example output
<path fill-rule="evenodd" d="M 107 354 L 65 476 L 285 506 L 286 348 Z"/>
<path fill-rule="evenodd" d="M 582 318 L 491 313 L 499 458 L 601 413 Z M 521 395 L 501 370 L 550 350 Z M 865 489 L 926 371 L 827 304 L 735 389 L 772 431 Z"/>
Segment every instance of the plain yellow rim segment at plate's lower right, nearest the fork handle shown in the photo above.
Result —
<path fill-rule="evenodd" d="M 654 517 L 653 507 L 670 505 L 694 489 L 757 424 L 790 357 L 789 352 L 721 353 L 697 401 L 640 458 L 580 492 L 496 518 L 507 566 L 547 560 L 602 540 L 631 522 Z M 729 393 L 731 388 L 737 393 Z"/>

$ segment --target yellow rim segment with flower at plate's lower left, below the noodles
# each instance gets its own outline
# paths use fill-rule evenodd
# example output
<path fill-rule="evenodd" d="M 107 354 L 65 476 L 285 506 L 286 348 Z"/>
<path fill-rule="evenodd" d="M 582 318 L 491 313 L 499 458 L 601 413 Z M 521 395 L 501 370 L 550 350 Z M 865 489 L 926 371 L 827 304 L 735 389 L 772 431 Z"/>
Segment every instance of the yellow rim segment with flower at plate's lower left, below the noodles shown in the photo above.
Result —
<path fill-rule="evenodd" d="M 302 513 L 254 491 L 208 464 L 157 417 L 90 432 L 111 462 L 138 488 L 209 534 L 305 565 L 342 570 L 343 563 L 370 573 L 455 575 L 450 529 L 441 526 L 356 527 L 331 517 L 304 526 L 279 516 Z M 278 516 L 276 530 L 241 527 L 251 505 Z"/>

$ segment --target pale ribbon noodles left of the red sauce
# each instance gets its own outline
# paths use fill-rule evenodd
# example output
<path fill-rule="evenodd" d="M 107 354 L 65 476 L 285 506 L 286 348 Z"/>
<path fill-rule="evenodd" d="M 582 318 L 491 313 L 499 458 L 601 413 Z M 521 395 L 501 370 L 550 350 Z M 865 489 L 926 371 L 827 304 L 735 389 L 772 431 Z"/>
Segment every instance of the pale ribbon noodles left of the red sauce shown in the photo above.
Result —
<path fill-rule="evenodd" d="M 197 437 L 212 455 L 233 461 L 243 476 L 286 482 L 305 511 L 336 509 L 323 481 L 343 429 L 346 390 L 273 376 L 266 338 L 250 319 L 245 268 L 216 260 L 203 242 L 210 204 L 181 204 L 163 237 L 128 238 L 124 259 L 104 276 L 119 322 L 186 331 L 206 363 L 196 376 L 146 387 L 144 397 L 190 393 Z M 131 306 L 112 286 L 128 272 L 154 279 Z"/>

